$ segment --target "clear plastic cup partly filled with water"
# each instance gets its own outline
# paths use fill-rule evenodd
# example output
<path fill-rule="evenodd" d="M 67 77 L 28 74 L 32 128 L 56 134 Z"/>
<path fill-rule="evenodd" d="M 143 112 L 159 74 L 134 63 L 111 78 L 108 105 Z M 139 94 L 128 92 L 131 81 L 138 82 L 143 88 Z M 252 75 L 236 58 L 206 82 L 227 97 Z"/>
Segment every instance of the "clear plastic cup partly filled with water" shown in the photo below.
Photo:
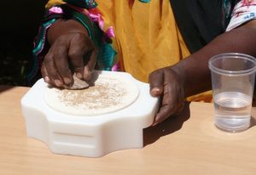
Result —
<path fill-rule="evenodd" d="M 247 54 L 225 53 L 209 60 L 215 125 L 228 132 L 250 127 L 256 59 Z"/>

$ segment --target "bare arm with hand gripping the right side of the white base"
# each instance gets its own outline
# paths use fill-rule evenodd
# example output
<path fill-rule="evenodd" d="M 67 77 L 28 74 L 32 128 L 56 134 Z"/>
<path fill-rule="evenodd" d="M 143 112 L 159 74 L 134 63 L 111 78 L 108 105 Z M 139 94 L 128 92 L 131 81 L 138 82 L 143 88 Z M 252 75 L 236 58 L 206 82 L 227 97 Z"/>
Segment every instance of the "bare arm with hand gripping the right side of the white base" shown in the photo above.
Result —
<path fill-rule="evenodd" d="M 184 98 L 211 89 L 208 60 L 216 54 L 237 52 L 256 56 L 256 20 L 219 35 L 177 65 L 154 71 L 149 76 L 150 93 L 160 97 L 154 124 L 179 113 Z"/>

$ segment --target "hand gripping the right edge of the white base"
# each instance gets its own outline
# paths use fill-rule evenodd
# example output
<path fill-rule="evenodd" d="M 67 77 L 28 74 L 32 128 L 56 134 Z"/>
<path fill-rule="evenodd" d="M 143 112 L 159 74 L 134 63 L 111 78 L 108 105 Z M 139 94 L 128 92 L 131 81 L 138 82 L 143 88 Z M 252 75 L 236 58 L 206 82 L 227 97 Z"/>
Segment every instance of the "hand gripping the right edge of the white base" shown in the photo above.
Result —
<path fill-rule="evenodd" d="M 153 126 L 167 117 L 183 110 L 183 77 L 172 67 L 166 67 L 149 75 L 150 94 L 160 97 L 160 109 L 154 118 Z"/>

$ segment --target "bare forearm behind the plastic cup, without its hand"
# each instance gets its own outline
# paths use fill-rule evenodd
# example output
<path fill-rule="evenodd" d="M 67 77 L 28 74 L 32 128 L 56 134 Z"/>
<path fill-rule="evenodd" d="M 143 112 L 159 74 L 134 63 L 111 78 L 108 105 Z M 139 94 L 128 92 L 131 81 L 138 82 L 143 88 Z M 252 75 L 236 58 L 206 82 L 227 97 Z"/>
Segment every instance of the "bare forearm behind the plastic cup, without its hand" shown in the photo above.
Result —
<path fill-rule="evenodd" d="M 208 60 L 216 54 L 236 52 L 256 56 L 256 21 L 251 21 L 216 37 L 195 54 L 183 59 L 172 68 L 183 78 L 185 96 L 211 89 Z"/>

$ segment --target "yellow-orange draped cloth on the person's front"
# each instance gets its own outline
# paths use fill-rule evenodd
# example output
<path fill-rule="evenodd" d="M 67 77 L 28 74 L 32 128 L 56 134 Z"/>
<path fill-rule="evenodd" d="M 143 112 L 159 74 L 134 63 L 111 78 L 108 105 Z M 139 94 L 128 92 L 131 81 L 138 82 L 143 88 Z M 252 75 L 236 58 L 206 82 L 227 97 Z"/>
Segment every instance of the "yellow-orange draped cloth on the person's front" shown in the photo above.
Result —
<path fill-rule="evenodd" d="M 46 7 L 62 3 L 49 0 Z M 148 82 L 152 71 L 189 56 L 169 0 L 151 0 L 150 3 L 135 0 L 132 5 L 129 0 L 96 0 L 96 3 L 104 20 L 104 30 L 113 26 L 113 48 L 118 53 L 122 71 Z M 194 99 L 201 100 L 201 95 Z"/>

